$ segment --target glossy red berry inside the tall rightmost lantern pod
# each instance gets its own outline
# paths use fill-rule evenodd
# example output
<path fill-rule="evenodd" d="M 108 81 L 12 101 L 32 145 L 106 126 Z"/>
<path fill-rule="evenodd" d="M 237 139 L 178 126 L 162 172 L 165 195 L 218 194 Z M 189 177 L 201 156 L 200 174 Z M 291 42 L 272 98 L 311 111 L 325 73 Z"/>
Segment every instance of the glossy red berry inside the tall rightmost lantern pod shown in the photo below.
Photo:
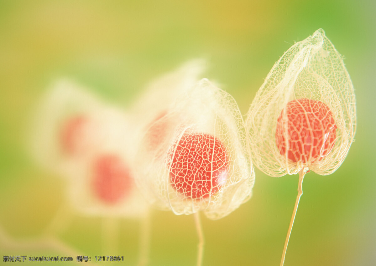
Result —
<path fill-rule="evenodd" d="M 287 103 L 277 119 L 276 144 L 281 155 L 285 154 L 288 143 L 290 160 L 312 164 L 332 150 L 336 129 L 327 105 L 306 98 L 296 99 Z"/>

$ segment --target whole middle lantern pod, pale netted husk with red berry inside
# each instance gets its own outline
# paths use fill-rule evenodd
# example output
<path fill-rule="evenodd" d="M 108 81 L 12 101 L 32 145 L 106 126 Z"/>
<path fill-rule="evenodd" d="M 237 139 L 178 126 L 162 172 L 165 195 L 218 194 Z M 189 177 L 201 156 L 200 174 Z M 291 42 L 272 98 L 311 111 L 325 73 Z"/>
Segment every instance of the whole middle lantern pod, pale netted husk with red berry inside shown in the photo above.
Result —
<path fill-rule="evenodd" d="M 139 189 L 159 209 L 210 219 L 237 209 L 255 175 L 235 100 L 206 79 L 182 91 L 144 134 L 136 169 Z"/>

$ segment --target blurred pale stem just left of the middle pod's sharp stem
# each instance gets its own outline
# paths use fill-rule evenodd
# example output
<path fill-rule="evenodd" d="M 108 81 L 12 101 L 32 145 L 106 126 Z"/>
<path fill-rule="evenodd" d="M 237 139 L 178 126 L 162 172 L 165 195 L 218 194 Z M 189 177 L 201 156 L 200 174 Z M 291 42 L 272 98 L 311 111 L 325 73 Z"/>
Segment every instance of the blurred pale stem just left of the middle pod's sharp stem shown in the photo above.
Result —
<path fill-rule="evenodd" d="M 149 262 L 150 251 L 150 213 L 147 211 L 141 221 L 138 266 L 145 266 Z"/>

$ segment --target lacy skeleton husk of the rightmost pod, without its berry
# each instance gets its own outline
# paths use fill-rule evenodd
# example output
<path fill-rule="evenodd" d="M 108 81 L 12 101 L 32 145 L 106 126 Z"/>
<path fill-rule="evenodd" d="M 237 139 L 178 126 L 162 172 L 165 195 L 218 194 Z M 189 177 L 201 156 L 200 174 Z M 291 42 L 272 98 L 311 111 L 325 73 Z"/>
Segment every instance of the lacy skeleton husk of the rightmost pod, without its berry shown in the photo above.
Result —
<path fill-rule="evenodd" d="M 278 117 L 288 102 L 302 98 L 323 102 L 337 126 L 334 146 L 320 160 L 294 162 L 276 145 Z M 287 121 L 286 111 L 281 116 Z M 341 165 L 355 135 L 355 94 L 342 56 L 322 29 L 294 44 L 274 64 L 250 105 L 246 126 L 253 162 L 270 176 L 296 174 L 303 168 L 327 175 Z"/>

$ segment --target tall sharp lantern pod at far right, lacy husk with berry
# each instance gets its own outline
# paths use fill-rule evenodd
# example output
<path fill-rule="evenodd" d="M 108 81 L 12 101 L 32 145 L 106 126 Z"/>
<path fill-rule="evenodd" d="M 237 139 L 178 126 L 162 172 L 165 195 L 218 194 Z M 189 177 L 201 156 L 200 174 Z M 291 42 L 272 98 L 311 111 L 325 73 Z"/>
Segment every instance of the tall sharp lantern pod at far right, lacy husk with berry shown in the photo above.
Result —
<path fill-rule="evenodd" d="M 246 126 L 253 162 L 270 176 L 303 168 L 326 175 L 341 165 L 355 135 L 355 94 L 342 56 L 322 29 L 274 64 Z"/>

